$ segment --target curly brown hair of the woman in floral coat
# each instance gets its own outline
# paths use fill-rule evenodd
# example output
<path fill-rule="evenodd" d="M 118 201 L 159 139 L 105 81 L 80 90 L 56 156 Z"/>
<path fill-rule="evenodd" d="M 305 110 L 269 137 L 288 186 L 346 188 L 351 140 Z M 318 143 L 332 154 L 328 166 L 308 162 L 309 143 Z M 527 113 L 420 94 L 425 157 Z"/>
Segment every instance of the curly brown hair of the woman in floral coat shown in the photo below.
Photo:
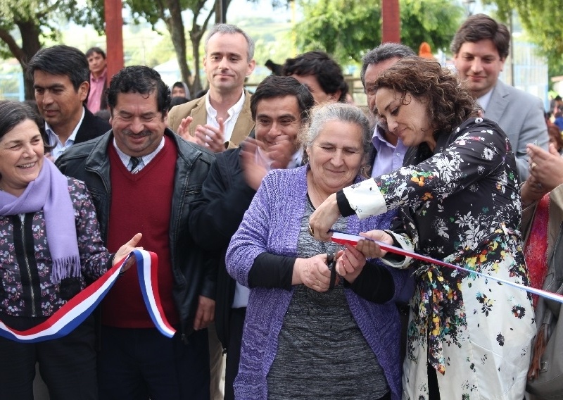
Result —
<path fill-rule="evenodd" d="M 374 89 L 381 87 L 403 94 L 403 99 L 408 93 L 422 101 L 434 127 L 434 138 L 449 135 L 464 120 L 479 115 L 479 106 L 457 75 L 428 58 L 397 61 L 377 77 Z"/>

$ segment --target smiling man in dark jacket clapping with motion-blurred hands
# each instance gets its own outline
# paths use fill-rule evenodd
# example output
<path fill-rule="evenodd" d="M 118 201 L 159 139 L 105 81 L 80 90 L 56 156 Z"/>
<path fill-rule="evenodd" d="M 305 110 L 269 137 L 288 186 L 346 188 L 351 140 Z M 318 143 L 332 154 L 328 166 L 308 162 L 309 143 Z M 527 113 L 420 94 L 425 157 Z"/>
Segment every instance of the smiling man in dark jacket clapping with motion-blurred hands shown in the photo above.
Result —
<path fill-rule="evenodd" d="M 307 87 L 293 77 L 269 75 L 262 80 L 251 99 L 256 139 L 217 154 L 191 211 L 189 228 L 194 241 L 220 254 L 215 325 L 227 349 L 225 400 L 234 399 L 249 291 L 227 274 L 224 254 L 267 171 L 302 165 L 303 149 L 297 136 L 314 102 Z"/>

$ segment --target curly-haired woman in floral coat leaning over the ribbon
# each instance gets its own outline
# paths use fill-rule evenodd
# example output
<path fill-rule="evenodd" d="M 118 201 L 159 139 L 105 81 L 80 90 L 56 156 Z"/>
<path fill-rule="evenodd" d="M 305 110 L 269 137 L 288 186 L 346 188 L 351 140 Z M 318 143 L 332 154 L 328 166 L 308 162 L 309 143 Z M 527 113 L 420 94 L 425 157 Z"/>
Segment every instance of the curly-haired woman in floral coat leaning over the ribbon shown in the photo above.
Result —
<path fill-rule="evenodd" d="M 375 82 L 379 120 L 410 146 L 403 168 L 365 180 L 317 207 L 310 229 L 327 240 L 340 215 L 391 209 L 400 223 L 362 234 L 469 270 L 528 285 L 514 153 L 505 132 L 435 61 L 404 58 Z M 523 399 L 533 308 L 526 292 L 493 279 L 357 248 L 415 273 L 403 399 Z M 346 254 L 342 257 L 346 260 Z M 339 263 L 339 273 L 353 273 Z"/>

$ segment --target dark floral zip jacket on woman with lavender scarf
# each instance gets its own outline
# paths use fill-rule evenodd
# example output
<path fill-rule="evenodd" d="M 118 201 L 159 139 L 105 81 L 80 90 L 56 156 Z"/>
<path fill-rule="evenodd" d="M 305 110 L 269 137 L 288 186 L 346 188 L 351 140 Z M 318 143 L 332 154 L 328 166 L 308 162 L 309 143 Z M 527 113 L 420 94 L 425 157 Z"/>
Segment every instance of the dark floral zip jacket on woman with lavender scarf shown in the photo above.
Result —
<path fill-rule="evenodd" d="M 111 254 L 103 246 L 96 220 L 96 209 L 83 182 L 68 178 L 68 190 L 75 213 L 78 250 L 82 277 L 80 289 L 86 287 L 84 277 L 96 280 L 106 273 Z M 51 253 L 47 244 L 43 211 L 33 214 L 33 237 L 25 237 L 26 242 L 33 241 L 34 257 L 37 263 L 38 287 L 34 291 L 41 296 L 41 310 L 37 316 L 48 317 L 55 313 L 65 300 L 61 298 L 58 284 L 51 282 Z M 0 216 L 0 312 L 13 316 L 27 315 L 30 304 L 26 304 L 23 294 L 22 273 L 15 255 L 13 216 Z M 28 246 L 26 245 L 26 248 Z M 23 269 L 23 267 L 22 267 Z"/>

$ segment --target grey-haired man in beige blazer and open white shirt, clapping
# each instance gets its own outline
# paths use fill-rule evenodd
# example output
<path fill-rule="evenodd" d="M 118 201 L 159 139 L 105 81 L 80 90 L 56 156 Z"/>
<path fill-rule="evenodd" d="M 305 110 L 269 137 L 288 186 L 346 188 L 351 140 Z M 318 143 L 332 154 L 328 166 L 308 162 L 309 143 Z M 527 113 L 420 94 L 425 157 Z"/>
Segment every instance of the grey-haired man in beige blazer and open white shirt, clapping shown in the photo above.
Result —
<path fill-rule="evenodd" d="M 234 25 L 218 24 L 205 39 L 203 68 L 209 90 L 200 99 L 175 106 L 168 126 L 215 152 L 239 145 L 251 132 L 251 94 L 244 80 L 254 70 L 254 42 Z"/>

